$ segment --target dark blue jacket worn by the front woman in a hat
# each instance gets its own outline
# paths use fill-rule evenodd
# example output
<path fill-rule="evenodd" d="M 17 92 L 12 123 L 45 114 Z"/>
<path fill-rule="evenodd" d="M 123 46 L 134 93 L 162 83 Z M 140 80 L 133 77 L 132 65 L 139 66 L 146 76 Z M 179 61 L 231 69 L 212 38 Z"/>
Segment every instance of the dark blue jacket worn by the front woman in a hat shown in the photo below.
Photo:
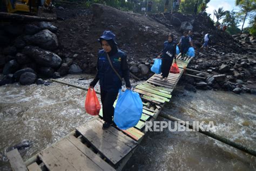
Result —
<path fill-rule="evenodd" d="M 126 87 L 131 87 L 129 80 L 129 67 L 125 53 L 118 50 L 116 54 L 110 56 L 110 60 L 114 69 L 122 78 L 124 78 Z M 100 50 L 98 52 L 97 70 L 98 71 L 96 77 L 90 84 L 91 86 L 94 87 L 99 80 L 101 91 L 118 92 L 118 90 L 122 88 L 122 81 L 110 66 L 109 60 L 107 59 L 107 55 L 104 50 Z"/>

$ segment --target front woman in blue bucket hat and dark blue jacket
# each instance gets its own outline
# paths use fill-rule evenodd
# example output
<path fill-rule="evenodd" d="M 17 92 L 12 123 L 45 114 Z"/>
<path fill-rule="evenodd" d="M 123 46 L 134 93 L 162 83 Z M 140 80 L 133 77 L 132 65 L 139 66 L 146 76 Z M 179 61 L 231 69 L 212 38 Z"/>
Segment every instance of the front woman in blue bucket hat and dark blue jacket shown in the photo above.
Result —
<path fill-rule="evenodd" d="M 117 98 L 119 89 L 122 88 L 122 80 L 118 77 L 117 73 L 120 77 L 124 78 L 126 88 L 131 89 L 126 54 L 118 50 L 115 38 L 116 35 L 111 31 L 104 31 L 103 35 L 98 39 L 103 50 L 98 52 L 97 74 L 95 79 L 90 83 L 90 87 L 93 88 L 99 80 L 103 120 L 105 121 L 103 129 L 113 125 L 113 104 Z M 109 55 L 111 64 L 117 73 L 112 69 L 107 55 Z"/>

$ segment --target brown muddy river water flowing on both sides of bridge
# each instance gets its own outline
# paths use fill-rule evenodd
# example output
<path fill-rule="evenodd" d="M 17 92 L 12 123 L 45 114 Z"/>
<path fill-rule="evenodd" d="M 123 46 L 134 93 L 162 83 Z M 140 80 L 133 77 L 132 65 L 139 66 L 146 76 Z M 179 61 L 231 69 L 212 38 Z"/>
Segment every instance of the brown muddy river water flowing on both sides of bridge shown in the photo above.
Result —
<path fill-rule="evenodd" d="M 87 87 L 92 77 L 61 80 Z M 132 83 L 135 85 L 136 83 Z M 99 91 L 99 87 L 96 86 Z M 0 87 L 0 170 L 11 170 L 6 149 L 27 140 L 23 160 L 50 146 L 92 117 L 86 92 L 58 83 Z M 178 86 L 162 111 L 185 121 L 213 121 L 216 134 L 256 150 L 256 95 L 192 93 Z M 158 117 L 158 120 L 165 120 Z M 167 120 L 165 120 L 167 121 Z M 197 132 L 149 132 L 123 170 L 255 170 L 255 157 Z"/>

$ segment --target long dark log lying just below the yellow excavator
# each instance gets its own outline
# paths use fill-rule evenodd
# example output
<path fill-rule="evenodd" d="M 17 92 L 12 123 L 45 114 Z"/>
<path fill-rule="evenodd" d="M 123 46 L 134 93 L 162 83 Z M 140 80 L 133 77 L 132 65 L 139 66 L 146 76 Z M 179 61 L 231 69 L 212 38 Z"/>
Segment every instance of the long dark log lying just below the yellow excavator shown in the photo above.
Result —
<path fill-rule="evenodd" d="M 56 20 L 56 18 L 46 18 L 46 17 L 37 17 L 37 16 L 28 16 L 28 15 L 21 15 L 17 13 L 7 13 L 7 12 L 0 12 L 0 19 L 1 20 L 18 20 L 23 22 L 52 22 Z"/>

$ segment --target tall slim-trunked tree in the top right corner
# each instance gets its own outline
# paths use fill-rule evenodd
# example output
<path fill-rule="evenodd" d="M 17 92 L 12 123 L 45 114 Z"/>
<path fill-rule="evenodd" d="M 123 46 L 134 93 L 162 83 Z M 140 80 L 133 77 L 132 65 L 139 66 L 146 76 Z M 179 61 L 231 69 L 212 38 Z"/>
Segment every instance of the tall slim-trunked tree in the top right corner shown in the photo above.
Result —
<path fill-rule="evenodd" d="M 239 6 L 240 8 L 240 16 L 244 18 L 244 22 L 242 22 L 242 29 L 244 28 L 246 17 L 256 10 L 256 3 L 255 0 L 235 0 L 235 5 Z"/>

